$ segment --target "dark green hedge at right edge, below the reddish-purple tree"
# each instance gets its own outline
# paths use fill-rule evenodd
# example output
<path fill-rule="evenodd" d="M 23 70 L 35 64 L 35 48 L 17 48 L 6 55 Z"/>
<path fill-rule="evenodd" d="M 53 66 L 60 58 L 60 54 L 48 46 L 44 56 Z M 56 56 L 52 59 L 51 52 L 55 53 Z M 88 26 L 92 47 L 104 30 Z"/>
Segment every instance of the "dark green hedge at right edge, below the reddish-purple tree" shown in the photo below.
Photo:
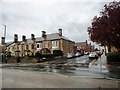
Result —
<path fill-rule="evenodd" d="M 110 52 L 107 54 L 107 62 L 120 62 L 120 52 Z"/>

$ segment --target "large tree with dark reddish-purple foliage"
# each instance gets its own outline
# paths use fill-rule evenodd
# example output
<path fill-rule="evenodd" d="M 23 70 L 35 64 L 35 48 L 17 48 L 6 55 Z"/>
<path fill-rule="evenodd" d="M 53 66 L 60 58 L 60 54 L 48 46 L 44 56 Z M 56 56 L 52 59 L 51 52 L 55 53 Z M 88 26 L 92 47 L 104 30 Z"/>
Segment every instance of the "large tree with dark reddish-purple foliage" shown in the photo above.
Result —
<path fill-rule="evenodd" d="M 93 18 L 88 34 L 93 42 L 120 51 L 120 2 L 105 5 L 100 16 Z"/>

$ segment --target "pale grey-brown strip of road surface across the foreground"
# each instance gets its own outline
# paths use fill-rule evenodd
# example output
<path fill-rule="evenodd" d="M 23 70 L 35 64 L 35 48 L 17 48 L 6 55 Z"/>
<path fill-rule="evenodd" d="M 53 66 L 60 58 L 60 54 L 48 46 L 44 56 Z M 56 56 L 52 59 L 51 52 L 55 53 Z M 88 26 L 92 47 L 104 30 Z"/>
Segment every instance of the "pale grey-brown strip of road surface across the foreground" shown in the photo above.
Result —
<path fill-rule="evenodd" d="M 118 82 L 47 72 L 2 69 L 2 88 L 118 88 Z"/>

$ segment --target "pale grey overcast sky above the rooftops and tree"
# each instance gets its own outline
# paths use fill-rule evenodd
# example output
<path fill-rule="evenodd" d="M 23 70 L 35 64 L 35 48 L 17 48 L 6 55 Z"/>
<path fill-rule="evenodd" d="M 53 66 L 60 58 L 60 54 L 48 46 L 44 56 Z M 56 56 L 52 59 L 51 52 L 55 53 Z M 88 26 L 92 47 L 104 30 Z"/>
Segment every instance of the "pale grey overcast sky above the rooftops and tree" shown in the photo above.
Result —
<path fill-rule="evenodd" d="M 103 2 L 104 1 L 104 2 Z M 112 0 L 1 0 L 0 37 L 7 25 L 7 40 L 18 34 L 30 38 L 41 36 L 41 31 L 63 35 L 76 42 L 88 40 L 87 27 L 91 20 Z"/>

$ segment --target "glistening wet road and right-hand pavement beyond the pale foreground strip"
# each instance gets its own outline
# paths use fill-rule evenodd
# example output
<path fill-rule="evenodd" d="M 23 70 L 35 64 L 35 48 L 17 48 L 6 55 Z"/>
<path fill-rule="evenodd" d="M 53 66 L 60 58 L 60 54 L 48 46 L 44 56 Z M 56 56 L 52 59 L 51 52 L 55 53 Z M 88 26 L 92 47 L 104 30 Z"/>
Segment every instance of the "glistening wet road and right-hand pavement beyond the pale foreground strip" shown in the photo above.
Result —
<path fill-rule="evenodd" d="M 38 72 L 50 72 L 65 76 L 81 76 L 92 78 L 119 78 L 119 68 L 109 69 L 106 64 L 106 58 L 103 55 L 98 60 L 88 59 L 88 55 L 68 59 L 65 61 L 52 61 L 49 64 L 32 66 L 7 67 L 11 69 L 31 70 Z M 110 72 L 110 70 L 112 72 Z M 113 72 L 114 71 L 114 72 Z"/>

